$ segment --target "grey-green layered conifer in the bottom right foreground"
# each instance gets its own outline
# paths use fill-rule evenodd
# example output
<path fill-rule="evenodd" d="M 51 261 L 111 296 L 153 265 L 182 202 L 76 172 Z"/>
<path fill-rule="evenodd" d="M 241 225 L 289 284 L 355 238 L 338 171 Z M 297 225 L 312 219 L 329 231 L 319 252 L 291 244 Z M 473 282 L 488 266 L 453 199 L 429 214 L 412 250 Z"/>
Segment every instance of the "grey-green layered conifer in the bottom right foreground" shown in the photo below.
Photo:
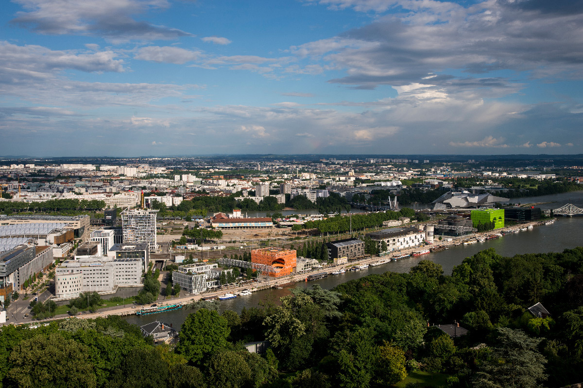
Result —
<path fill-rule="evenodd" d="M 537 388 L 546 379 L 546 359 L 537 347 L 541 338 L 531 338 L 521 330 L 497 329 L 497 346 L 480 365 L 473 378 L 476 388 Z"/>

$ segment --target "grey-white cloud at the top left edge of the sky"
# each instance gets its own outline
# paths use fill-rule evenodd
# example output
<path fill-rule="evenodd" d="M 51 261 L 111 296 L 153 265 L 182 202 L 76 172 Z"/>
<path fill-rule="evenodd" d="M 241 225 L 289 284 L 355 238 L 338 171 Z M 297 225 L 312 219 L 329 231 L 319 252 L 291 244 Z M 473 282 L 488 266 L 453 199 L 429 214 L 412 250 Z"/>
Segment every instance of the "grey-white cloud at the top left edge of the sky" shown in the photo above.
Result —
<path fill-rule="evenodd" d="M 25 10 L 11 23 L 48 35 L 100 36 L 114 42 L 174 39 L 192 36 L 185 31 L 156 26 L 135 15 L 169 6 L 166 0 L 15 0 Z"/>

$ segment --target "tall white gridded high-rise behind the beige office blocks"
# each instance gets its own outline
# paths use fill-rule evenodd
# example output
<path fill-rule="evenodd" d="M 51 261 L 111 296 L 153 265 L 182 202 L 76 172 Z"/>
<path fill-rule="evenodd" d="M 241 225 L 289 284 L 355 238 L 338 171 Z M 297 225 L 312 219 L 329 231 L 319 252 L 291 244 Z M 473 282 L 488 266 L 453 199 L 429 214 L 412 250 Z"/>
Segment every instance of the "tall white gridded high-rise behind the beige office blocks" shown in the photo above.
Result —
<path fill-rule="evenodd" d="M 124 244 L 146 243 L 150 252 L 156 252 L 157 210 L 125 209 L 121 212 Z"/>

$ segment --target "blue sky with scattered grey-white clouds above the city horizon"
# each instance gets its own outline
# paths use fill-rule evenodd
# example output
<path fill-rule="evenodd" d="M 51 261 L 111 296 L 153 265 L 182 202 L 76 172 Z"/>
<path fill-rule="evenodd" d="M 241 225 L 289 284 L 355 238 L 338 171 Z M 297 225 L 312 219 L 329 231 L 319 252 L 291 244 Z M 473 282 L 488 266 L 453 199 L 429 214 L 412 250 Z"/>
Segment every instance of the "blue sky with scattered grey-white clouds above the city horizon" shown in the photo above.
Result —
<path fill-rule="evenodd" d="M 583 153 L 583 2 L 12 0 L 0 155 Z"/>

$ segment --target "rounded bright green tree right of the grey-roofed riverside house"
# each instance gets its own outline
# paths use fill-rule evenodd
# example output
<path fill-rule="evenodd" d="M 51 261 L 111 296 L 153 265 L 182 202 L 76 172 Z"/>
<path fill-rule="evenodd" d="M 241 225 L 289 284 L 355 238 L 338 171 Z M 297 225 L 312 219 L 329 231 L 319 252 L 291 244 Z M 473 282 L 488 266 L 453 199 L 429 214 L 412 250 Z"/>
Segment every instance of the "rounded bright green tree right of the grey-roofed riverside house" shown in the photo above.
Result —
<path fill-rule="evenodd" d="M 204 357 L 227 344 L 230 329 L 225 318 L 205 308 L 187 316 L 180 330 L 176 350 L 198 364 Z"/>

